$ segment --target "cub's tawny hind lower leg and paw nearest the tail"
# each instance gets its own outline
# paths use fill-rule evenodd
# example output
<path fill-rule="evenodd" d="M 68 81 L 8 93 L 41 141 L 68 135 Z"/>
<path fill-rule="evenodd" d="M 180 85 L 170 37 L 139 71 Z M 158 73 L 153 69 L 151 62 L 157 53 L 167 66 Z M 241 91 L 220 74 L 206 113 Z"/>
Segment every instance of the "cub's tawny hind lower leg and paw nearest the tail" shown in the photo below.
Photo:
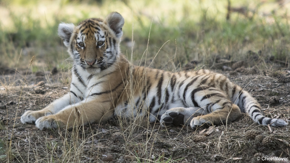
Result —
<path fill-rule="evenodd" d="M 236 104 L 229 103 L 222 109 L 217 109 L 212 113 L 194 117 L 191 122 L 191 128 L 195 129 L 199 126 L 213 126 L 218 124 L 225 124 L 227 122 L 232 122 L 238 117 L 240 117 L 241 111 Z"/>

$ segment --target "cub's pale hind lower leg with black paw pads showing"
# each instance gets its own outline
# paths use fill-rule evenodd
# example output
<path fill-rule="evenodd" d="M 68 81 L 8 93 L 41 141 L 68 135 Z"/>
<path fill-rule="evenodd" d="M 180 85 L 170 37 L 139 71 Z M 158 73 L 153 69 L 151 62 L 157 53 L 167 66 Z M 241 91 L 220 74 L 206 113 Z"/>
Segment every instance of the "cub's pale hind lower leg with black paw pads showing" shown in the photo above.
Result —
<path fill-rule="evenodd" d="M 160 123 L 162 126 L 179 126 L 180 124 L 189 125 L 193 117 L 203 114 L 207 114 L 207 112 L 198 107 L 171 108 L 161 116 Z"/>

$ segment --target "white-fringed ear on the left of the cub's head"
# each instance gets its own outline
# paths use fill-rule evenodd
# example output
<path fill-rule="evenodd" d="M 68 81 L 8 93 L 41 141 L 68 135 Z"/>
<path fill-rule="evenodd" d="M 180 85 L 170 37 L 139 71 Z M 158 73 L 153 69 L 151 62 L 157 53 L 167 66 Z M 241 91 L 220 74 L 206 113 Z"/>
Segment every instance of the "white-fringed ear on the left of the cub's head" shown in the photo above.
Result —
<path fill-rule="evenodd" d="M 64 40 L 64 45 L 68 46 L 70 43 L 70 36 L 73 34 L 75 25 L 73 23 L 60 23 L 58 26 L 58 35 Z"/>

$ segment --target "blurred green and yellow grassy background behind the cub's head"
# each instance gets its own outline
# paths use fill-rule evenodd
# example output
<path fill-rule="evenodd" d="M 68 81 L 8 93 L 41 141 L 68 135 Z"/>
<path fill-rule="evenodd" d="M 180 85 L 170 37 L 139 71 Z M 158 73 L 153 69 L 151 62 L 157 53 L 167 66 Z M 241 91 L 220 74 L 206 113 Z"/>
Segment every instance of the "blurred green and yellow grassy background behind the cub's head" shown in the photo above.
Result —
<path fill-rule="evenodd" d="M 289 62 L 287 2 L 0 0 L 0 68 L 27 68 L 35 55 L 32 72 L 69 70 L 58 24 L 105 18 L 112 11 L 125 19 L 121 50 L 129 60 L 132 54 L 135 64 L 144 64 L 146 57 L 152 67 L 164 70 L 180 70 L 191 60 L 209 68 L 216 56 L 238 61 L 249 57 L 249 50 L 262 50 L 259 55 L 265 60 L 273 56 Z"/>

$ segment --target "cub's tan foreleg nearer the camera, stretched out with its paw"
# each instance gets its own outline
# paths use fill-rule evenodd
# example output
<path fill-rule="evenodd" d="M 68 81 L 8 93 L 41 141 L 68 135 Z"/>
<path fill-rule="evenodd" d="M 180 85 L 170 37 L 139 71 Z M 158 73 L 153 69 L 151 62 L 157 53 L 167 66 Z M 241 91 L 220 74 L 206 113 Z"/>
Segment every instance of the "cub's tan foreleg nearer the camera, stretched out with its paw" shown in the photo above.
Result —
<path fill-rule="evenodd" d="M 102 99 L 101 99 L 102 100 Z M 101 122 L 109 119 L 114 112 L 114 105 L 108 100 L 86 99 L 75 105 L 66 106 L 56 114 L 40 117 L 36 120 L 37 128 L 64 128 Z"/>

